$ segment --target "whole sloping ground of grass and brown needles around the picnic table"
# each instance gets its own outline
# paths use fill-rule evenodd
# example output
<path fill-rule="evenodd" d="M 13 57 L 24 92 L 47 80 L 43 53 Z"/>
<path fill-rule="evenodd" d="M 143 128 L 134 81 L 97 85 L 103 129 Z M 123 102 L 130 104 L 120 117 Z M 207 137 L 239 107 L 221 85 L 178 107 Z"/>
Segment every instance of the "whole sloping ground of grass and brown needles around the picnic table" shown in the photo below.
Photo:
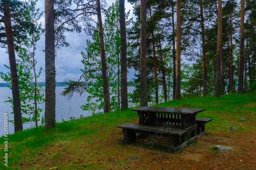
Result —
<path fill-rule="evenodd" d="M 8 167 L 2 163 L 0 169 L 256 169 L 255 93 L 183 99 L 157 106 L 204 109 L 197 117 L 212 118 L 206 124 L 206 136 L 170 154 L 167 139 L 157 136 L 122 144 L 123 133 L 116 126 L 139 120 L 131 109 L 81 116 L 57 123 L 51 130 L 39 127 L 8 135 Z M 217 152 L 212 149 L 215 145 L 233 150 Z M 3 149 L 1 153 L 5 154 Z"/>

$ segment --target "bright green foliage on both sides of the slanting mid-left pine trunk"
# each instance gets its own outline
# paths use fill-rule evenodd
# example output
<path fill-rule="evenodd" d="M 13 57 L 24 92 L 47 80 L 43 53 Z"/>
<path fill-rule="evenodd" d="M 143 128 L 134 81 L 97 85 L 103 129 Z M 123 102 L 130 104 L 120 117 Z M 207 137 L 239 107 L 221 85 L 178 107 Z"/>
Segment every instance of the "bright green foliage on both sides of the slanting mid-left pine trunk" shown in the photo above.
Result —
<path fill-rule="evenodd" d="M 126 14 L 126 18 L 129 14 Z M 128 24 L 129 22 L 127 22 Z M 96 29 L 95 29 L 96 30 Z M 104 46 L 107 64 L 107 76 L 110 92 L 111 110 L 117 110 L 120 106 L 120 28 L 119 28 L 119 4 L 118 1 L 106 10 L 106 18 L 103 24 Z M 98 33 L 94 32 L 93 41 L 87 40 L 86 52 L 81 52 L 81 62 L 84 68 L 82 78 L 84 82 L 70 81 L 62 95 L 72 96 L 73 92 L 87 92 L 87 103 L 81 109 L 90 113 L 99 112 L 103 108 L 103 85 L 101 76 L 101 60 L 99 51 Z"/>

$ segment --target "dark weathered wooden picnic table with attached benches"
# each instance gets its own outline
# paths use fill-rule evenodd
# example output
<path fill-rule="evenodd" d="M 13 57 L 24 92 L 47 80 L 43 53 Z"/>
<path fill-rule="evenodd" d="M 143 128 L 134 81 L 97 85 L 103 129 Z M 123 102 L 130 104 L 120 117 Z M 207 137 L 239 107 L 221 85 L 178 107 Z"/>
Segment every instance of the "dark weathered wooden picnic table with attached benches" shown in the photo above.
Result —
<path fill-rule="evenodd" d="M 124 144 L 136 141 L 136 133 L 161 134 L 168 137 L 168 151 L 176 152 L 205 135 L 205 124 L 210 118 L 197 118 L 196 115 L 204 109 L 171 108 L 171 107 L 141 107 L 132 109 L 139 115 L 139 124 L 122 124 Z"/>

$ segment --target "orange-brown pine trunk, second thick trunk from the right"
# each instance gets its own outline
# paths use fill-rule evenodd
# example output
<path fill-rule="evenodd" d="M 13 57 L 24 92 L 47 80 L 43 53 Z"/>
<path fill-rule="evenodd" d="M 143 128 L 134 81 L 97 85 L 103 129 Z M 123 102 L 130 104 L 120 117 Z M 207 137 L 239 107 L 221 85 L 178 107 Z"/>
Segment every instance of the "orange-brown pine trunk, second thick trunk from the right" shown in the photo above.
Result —
<path fill-rule="evenodd" d="M 217 58 L 215 72 L 215 96 L 220 96 L 221 90 L 221 56 L 222 56 L 222 0 L 218 0 L 218 35 L 217 35 Z"/>

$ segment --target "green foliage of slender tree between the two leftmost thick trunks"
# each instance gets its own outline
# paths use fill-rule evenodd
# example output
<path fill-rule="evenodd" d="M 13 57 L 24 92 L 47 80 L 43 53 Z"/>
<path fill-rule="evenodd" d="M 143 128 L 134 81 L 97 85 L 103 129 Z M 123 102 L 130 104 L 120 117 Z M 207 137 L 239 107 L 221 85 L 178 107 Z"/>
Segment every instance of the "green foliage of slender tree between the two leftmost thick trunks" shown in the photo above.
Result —
<path fill-rule="evenodd" d="M 40 77 L 42 68 L 39 69 L 38 74 L 35 72 L 35 44 L 40 39 L 40 35 L 43 30 L 41 29 L 41 23 L 38 23 L 38 20 L 42 16 L 42 12 L 39 12 L 39 9 L 36 9 L 36 2 L 30 0 L 25 2 L 24 5 L 27 7 L 24 10 L 24 18 L 27 23 L 30 23 L 30 27 L 26 30 L 27 38 L 24 39 L 24 46 L 18 47 L 18 59 L 16 60 L 17 65 L 17 75 L 18 75 L 18 84 L 19 84 L 19 98 L 20 105 L 22 109 L 22 114 L 26 116 L 22 117 L 23 124 L 29 122 L 35 122 L 40 120 L 40 112 L 42 109 L 37 107 L 37 104 L 42 104 L 45 102 L 44 99 L 44 89 L 40 85 L 36 84 L 36 79 Z M 6 68 L 10 69 L 9 66 L 5 65 Z M 0 72 L 0 77 L 6 81 L 11 82 L 10 72 L 4 73 Z M 11 85 L 8 85 L 11 89 Z M 11 97 L 8 97 L 9 102 L 13 107 L 13 100 Z M 11 113 L 13 114 L 13 112 Z M 14 122 L 10 120 L 10 122 Z"/>

